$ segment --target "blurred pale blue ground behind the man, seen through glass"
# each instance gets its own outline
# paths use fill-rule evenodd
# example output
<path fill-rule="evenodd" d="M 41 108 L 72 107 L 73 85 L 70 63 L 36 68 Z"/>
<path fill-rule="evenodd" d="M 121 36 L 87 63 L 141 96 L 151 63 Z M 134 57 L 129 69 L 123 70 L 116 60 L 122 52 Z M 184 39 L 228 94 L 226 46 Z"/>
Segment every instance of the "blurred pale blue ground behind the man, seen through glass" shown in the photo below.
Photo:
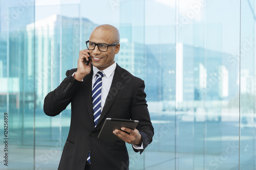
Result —
<path fill-rule="evenodd" d="M 239 154 L 241 170 L 256 169 L 254 168 L 256 162 L 254 145 L 256 144 L 252 136 L 253 126 L 241 127 L 242 137 L 239 152 L 237 122 L 188 121 L 176 125 L 176 128 L 179 129 L 175 130 L 173 117 L 162 117 L 161 119 L 162 121 L 158 121 L 153 117 L 154 139 L 141 155 L 135 153 L 131 145 L 127 144 L 131 170 L 239 170 Z M 52 119 L 49 124 L 46 124 L 48 119 L 43 117 L 37 120 L 35 150 L 31 148 L 33 146 L 33 128 L 28 126 L 33 125 L 32 123 L 26 124 L 27 129 L 20 130 L 26 133 L 24 141 L 27 143 L 27 147 L 16 142 L 21 138 L 19 133 L 10 131 L 12 138 L 9 139 L 10 144 L 8 145 L 8 167 L 1 161 L 1 170 L 57 169 L 63 148 L 63 142 L 59 143 L 57 140 L 59 137 L 56 137 L 59 135 L 59 124 L 62 125 L 62 141 L 65 141 L 70 119 L 62 117 L 60 123 L 56 119 Z M 28 120 L 28 122 L 31 121 Z M 206 132 L 204 132 L 205 129 L 207 129 Z M 18 127 L 16 130 L 19 130 Z M 0 157 L 2 160 L 4 154 L 4 143 L 1 142 Z M 34 164 L 35 166 L 33 166 Z"/>

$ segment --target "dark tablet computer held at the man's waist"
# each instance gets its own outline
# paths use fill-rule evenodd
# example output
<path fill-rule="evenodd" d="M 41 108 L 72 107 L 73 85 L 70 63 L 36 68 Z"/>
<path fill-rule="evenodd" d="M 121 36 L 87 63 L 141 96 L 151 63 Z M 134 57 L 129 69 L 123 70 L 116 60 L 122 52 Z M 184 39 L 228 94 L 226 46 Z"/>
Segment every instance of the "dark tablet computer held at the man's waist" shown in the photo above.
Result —
<path fill-rule="evenodd" d="M 113 131 L 115 129 L 129 128 L 135 129 L 138 125 L 138 120 L 126 120 L 126 119 L 117 119 L 117 118 L 106 118 L 105 122 L 99 132 L 98 138 L 100 139 L 110 139 L 110 140 L 122 140 L 117 137 Z"/>

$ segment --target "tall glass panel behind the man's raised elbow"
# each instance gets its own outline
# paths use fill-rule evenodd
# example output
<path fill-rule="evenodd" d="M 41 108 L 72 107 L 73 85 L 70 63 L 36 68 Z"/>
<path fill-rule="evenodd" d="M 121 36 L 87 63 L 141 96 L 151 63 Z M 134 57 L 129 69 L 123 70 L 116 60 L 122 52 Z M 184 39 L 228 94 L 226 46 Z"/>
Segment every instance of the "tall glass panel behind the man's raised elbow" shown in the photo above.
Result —
<path fill-rule="evenodd" d="M 47 11 L 44 12 L 44 11 Z M 38 169 L 57 168 L 63 143 L 60 116 L 48 117 L 44 99 L 60 82 L 60 6 L 35 7 L 36 117 L 35 165 Z M 61 145 L 62 144 L 62 145 Z"/>

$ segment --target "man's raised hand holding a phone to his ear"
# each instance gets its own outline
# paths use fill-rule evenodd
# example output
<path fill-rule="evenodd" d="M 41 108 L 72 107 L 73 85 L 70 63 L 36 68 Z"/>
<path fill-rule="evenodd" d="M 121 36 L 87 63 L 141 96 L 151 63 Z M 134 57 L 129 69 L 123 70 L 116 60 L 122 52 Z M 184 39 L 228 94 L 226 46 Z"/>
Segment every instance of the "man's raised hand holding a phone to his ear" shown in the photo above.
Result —
<path fill-rule="evenodd" d="M 77 62 L 77 71 L 75 72 L 74 78 L 78 81 L 82 79 L 91 72 L 91 64 L 89 50 L 84 49 L 79 52 L 79 59 Z M 88 63 L 88 64 L 87 64 Z"/>

